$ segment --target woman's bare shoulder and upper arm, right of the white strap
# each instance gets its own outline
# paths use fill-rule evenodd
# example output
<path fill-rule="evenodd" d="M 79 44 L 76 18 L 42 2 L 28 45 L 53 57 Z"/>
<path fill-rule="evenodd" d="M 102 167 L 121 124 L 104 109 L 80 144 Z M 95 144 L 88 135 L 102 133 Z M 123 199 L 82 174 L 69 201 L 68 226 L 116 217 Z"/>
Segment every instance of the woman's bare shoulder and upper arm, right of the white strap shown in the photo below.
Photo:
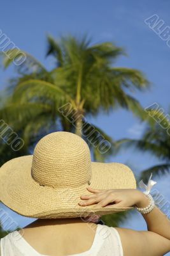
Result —
<path fill-rule="evenodd" d="M 115 228 L 118 231 L 124 256 L 162 256 L 170 252 L 170 240 L 151 231 Z"/>

